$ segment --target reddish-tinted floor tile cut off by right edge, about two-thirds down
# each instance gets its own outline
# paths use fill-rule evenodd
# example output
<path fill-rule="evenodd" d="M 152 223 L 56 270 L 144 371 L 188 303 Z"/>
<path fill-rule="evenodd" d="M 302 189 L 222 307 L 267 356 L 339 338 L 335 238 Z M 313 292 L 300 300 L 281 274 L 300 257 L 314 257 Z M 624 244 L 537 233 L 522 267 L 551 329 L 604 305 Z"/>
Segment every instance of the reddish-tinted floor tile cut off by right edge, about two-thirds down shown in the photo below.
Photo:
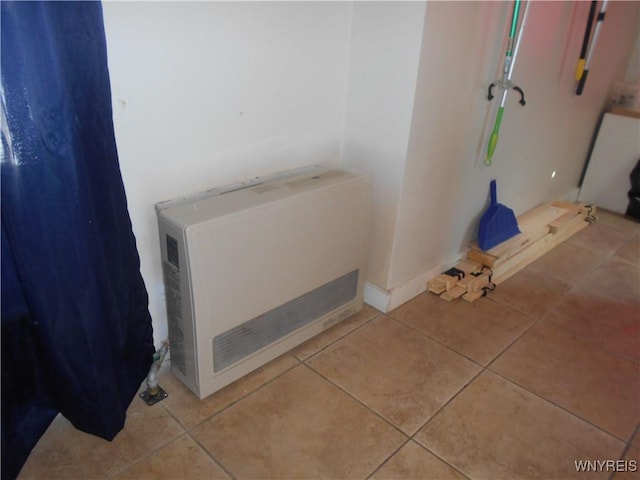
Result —
<path fill-rule="evenodd" d="M 566 295 L 545 320 L 608 352 L 640 363 L 640 308 L 580 290 Z"/>

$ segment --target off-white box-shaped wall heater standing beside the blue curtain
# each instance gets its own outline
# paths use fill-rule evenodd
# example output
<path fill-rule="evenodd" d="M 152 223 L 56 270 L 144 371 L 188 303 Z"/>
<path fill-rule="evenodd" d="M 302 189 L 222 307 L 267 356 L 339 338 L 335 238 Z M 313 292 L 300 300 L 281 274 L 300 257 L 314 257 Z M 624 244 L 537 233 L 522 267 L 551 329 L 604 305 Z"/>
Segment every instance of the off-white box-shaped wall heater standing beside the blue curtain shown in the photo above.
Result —
<path fill-rule="evenodd" d="M 362 308 L 362 173 L 307 167 L 156 212 L 172 371 L 199 398 Z"/>

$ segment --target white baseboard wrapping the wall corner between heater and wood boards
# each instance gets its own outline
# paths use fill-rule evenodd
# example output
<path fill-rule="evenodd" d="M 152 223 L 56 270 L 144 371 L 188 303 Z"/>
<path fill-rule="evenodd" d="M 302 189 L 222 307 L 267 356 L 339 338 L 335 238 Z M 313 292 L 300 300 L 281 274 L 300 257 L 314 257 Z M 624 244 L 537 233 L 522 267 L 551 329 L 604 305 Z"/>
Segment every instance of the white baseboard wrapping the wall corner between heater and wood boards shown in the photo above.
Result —
<path fill-rule="evenodd" d="M 448 270 L 465 257 L 466 251 L 458 255 L 452 255 L 431 267 L 426 272 L 413 277 L 411 280 L 391 290 L 385 290 L 377 285 L 366 282 L 364 285 L 364 301 L 376 310 L 389 313 L 412 298 L 426 292 L 427 282 L 429 280 Z"/>

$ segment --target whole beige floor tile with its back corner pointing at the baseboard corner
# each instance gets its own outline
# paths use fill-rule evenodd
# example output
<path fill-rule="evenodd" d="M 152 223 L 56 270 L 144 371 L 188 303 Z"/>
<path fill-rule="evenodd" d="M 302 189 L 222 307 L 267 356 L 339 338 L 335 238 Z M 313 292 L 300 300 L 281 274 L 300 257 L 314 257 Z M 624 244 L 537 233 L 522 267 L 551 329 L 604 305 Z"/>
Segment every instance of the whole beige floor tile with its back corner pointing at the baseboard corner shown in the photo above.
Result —
<path fill-rule="evenodd" d="M 387 316 L 372 320 L 308 364 L 409 435 L 481 369 Z"/>

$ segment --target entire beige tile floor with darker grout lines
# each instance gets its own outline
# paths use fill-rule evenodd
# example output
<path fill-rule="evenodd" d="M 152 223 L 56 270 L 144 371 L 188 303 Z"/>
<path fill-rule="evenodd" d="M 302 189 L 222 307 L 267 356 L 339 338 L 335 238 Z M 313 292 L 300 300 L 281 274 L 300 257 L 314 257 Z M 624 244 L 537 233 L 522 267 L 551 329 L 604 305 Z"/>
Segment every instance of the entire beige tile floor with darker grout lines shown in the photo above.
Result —
<path fill-rule="evenodd" d="M 21 478 L 638 479 L 640 224 L 600 212 L 473 304 L 365 307 L 203 401 L 166 370 L 113 442 L 58 417 Z"/>

